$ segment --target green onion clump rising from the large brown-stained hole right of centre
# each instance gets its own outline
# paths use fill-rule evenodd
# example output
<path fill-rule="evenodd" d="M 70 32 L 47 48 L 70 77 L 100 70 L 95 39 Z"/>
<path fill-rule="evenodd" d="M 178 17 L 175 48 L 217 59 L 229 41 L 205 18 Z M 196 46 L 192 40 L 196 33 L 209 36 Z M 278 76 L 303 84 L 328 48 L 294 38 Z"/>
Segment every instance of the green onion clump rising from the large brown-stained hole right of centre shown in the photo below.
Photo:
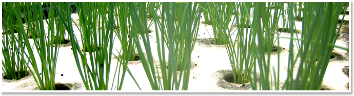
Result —
<path fill-rule="evenodd" d="M 253 47 L 255 46 L 255 37 L 250 35 L 250 30 L 248 29 L 252 3 L 231 4 L 234 6 L 233 9 L 226 11 L 234 11 L 235 13 L 234 20 L 236 20 L 235 25 L 237 25 L 235 30 L 237 31 L 237 36 L 234 39 L 232 38 L 232 26 L 230 28 L 228 25 L 224 26 L 227 29 L 227 31 L 224 29 L 227 42 L 225 47 L 231 63 L 233 83 L 244 84 L 250 81 L 251 78 L 249 76 L 251 75 L 247 71 L 252 71 L 252 66 L 255 62 L 255 59 L 251 56 L 252 48 L 255 48 Z M 218 18 L 217 16 L 215 17 Z M 227 21 L 230 21 L 230 16 L 225 17 L 228 17 Z"/>

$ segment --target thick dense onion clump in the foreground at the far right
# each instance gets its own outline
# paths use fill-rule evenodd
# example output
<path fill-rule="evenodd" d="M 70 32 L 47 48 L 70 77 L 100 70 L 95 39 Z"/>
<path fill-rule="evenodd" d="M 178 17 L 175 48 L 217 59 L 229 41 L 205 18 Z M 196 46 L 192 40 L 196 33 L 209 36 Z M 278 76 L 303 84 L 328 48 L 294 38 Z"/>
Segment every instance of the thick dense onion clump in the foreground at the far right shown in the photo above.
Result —
<path fill-rule="evenodd" d="M 344 4 L 343 2 L 304 3 L 303 35 L 299 49 L 300 66 L 292 88 L 291 86 L 283 88 L 321 90 L 332 49 L 339 34 L 338 31 L 336 35 L 336 27 Z M 344 8 L 346 9 L 347 6 L 345 5 Z"/>

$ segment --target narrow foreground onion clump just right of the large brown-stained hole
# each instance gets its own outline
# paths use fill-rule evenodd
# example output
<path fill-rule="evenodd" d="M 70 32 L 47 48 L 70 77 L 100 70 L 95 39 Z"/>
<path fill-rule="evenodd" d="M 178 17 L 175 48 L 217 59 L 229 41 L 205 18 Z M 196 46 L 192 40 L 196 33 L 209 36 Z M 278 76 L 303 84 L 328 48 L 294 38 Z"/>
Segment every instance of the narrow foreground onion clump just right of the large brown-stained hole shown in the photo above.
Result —
<path fill-rule="evenodd" d="M 251 30 L 253 30 L 254 34 L 257 34 L 257 39 L 258 39 L 258 51 L 254 52 L 255 58 L 257 58 L 258 61 L 258 67 L 260 70 L 260 77 L 259 77 L 259 88 L 262 90 L 270 90 L 272 84 L 270 84 L 269 81 L 269 76 L 271 76 L 270 73 L 270 50 L 273 47 L 273 39 L 274 38 L 274 28 L 273 26 L 276 26 L 278 24 L 278 20 L 275 19 L 279 15 L 274 12 L 274 20 L 271 20 L 271 7 L 272 4 L 268 3 L 268 8 L 266 8 L 266 3 L 254 3 L 254 13 L 253 13 L 253 22 L 252 22 L 252 27 Z M 275 8 L 275 10 L 278 10 L 278 8 Z M 278 16 L 276 16 L 278 15 Z M 269 20 L 270 19 L 270 20 Z M 274 25 L 275 24 L 275 25 Z M 273 25 L 270 27 L 270 25 Z M 268 48 L 264 50 L 264 48 Z M 279 48 L 278 48 L 279 49 Z M 267 59 L 265 56 L 265 52 L 268 52 Z M 257 65 L 256 65 L 257 66 Z M 253 67 L 254 70 L 256 70 L 257 67 Z M 255 75 L 255 73 L 253 73 Z M 257 77 L 254 76 L 253 80 L 256 80 Z M 251 82 L 252 84 L 252 89 L 257 90 L 257 82 Z"/>

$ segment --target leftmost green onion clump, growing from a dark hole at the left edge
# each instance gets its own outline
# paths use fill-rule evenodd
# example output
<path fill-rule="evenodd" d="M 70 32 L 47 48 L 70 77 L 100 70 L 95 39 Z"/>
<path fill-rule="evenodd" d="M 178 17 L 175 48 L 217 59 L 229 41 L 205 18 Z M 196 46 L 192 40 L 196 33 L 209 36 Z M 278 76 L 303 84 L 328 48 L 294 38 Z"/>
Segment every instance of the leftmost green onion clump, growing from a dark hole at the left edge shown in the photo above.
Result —
<path fill-rule="evenodd" d="M 3 71 L 8 80 L 17 80 L 24 78 L 28 75 L 26 65 L 26 58 L 23 48 L 25 45 L 22 43 L 22 35 L 15 35 L 17 20 L 13 17 L 13 11 L 6 7 L 5 3 L 3 5 Z M 18 8 L 18 7 L 17 7 Z M 8 30 L 7 30 L 8 29 Z M 17 28 L 18 29 L 18 28 Z M 9 31 L 9 32 L 7 32 Z"/>

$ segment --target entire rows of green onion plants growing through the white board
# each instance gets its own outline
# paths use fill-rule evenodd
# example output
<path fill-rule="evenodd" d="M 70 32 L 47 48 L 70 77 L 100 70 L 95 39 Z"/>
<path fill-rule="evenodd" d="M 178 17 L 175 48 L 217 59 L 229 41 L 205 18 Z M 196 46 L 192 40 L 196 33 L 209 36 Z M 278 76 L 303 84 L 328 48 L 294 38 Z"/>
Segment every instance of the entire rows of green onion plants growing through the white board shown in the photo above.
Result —
<path fill-rule="evenodd" d="M 233 83 L 250 82 L 252 90 L 321 90 L 333 48 L 349 51 L 335 45 L 344 24 L 340 22 L 337 28 L 338 18 L 344 20 L 340 14 L 349 3 L 7 2 L 2 5 L 4 78 L 17 80 L 30 73 L 40 90 L 55 90 L 58 53 L 67 42 L 86 90 L 122 90 L 126 73 L 140 88 L 135 81 L 139 77 L 134 77 L 128 67 L 136 54 L 152 90 L 188 90 L 191 53 L 202 16 L 204 24 L 212 25 L 213 43 L 225 45 Z M 74 10 L 78 24 L 71 17 Z M 297 20 L 302 21 L 299 33 L 295 31 Z M 150 44 L 151 26 L 155 29 L 156 47 Z M 80 34 L 74 34 L 74 28 Z M 281 36 L 285 31 L 290 37 Z M 278 67 L 270 63 L 274 49 L 280 60 L 280 38 L 290 40 L 284 85 L 280 84 L 280 63 Z M 121 49 L 113 48 L 117 44 L 115 39 Z M 154 62 L 156 55 L 152 49 L 158 50 L 159 62 Z M 112 67 L 114 56 L 118 62 Z M 296 64 L 299 68 L 294 68 Z"/>

